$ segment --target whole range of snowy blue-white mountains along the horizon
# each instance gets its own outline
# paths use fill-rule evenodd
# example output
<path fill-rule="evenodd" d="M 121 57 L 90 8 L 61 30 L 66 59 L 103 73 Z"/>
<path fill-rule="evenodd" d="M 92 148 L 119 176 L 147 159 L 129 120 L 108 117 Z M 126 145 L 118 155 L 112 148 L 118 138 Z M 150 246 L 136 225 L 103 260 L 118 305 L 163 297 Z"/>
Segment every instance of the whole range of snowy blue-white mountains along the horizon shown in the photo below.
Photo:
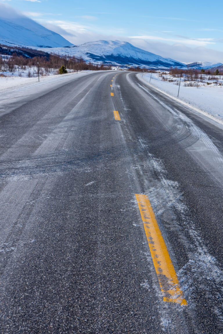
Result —
<path fill-rule="evenodd" d="M 87 62 L 113 64 L 118 66 L 139 66 L 154 69 L 178 68 L 211 68 L 221 63 L 208 62 L 182 63 L 164 58 L 142 50 L 128 42 L 99 40 L 81 45 L 73 45 L 61 35 L 46 29 L 26 16 L 17 15 L 13 18 L 1 17 L 0 13 L 0 44 L 9 46 L 26 46 L 49 53 L 74 55 Z"/>

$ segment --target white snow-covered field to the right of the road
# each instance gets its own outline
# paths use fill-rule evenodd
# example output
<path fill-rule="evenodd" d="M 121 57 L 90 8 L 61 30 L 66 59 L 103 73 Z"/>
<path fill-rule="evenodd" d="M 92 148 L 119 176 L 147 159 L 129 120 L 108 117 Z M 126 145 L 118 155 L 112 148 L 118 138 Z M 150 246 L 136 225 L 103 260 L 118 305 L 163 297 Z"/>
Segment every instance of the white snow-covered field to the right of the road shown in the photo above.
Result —
<path fill-rule="evenodd" d="M 145 73 L 143 76 L 138 74 L 138 77 L 145 80 L 147 83 L 150 80 L 150 76 L 151 73 Z M 164 77 L 164 79 L 170 78 L 170 81 L 174 81 L 163 81 L 162 77 Z M 186 80 L 186 78 L 183 78 L 183 80 L 184 79 Z M 186 87 L 185 85 L 189 82 L 181 81 L 179 98 L 177 98 L 179 80 L 180 78 L 172 77 L 169 74 L 160 76 L 159 73 L 152 73 L 150 85 L 178 99 L 184 104 L 188 104 L 195 110 L 207 114 L 211 118 L 223 121 L 223 76 L 218 75 L 217 79 L 210 79 L 209 75 L 204 75 L 203 82 L 194 81 L 195 85 L 198 84 L 198 88 Z"/>

